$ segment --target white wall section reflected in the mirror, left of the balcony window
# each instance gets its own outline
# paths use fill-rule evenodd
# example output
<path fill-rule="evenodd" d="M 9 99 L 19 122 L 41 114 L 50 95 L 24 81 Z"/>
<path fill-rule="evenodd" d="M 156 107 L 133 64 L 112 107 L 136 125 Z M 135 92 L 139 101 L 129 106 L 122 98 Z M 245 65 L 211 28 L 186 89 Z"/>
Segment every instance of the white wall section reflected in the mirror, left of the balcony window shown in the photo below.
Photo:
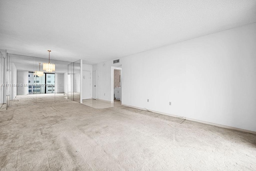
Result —
<path fill-rule="evenodd" d="M 28 85 L 28 71 L 17 71 L 17 84 Z M 18 86 L 17 95 L 27 95 L 28 87 Z"/>

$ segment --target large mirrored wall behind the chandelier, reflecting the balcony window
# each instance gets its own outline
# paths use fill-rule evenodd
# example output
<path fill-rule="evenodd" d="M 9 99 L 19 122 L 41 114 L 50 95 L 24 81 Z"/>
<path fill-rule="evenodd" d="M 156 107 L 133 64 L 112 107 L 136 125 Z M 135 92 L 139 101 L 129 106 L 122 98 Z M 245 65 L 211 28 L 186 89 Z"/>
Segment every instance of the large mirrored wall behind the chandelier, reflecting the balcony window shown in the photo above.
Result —
<path fill-rule="evenodd" d="M 80 61 L 50 60 L 55 64 L 53 72 L 43 70 L 44 63 L 49 63 L 49 60 L 10 54 L 12 84 L 17 85 L 10 92 L 12 106 L 70 100 L 80 102 Z M 74 81 L 79 85 L 74 85 Z"/>

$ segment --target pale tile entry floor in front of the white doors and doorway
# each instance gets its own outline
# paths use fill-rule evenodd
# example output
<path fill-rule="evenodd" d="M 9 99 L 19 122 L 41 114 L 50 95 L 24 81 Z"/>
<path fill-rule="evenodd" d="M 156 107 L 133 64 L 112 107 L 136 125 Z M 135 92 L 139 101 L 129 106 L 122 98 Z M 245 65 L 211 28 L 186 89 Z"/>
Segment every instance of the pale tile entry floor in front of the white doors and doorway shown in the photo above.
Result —
<path fill-rule="evenodd" d="M 93 107 L 95 109 L 106 109 L 109 107 L 116 107 L 121 105 L 120 100 L 114 100 L 114 103 L 110 103 L 107 101 L 97 100 L 97 99 L 85 99 L 83 100 L 84 105 Z"/>

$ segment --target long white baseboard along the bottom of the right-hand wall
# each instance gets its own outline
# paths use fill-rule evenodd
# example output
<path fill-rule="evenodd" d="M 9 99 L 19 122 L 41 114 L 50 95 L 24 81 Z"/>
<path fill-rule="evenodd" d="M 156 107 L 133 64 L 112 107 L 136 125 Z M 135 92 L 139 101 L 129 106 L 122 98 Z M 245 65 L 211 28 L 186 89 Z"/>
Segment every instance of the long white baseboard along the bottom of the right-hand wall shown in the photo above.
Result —
<path fill-rule="evenodd" d="M 159 113 L 159 114 L 162 114 L 162 115 L 168 115 L 168 116 L 172 116 L 172 117 L 178 117 L 178 118 L 186 119 L 186 120 L 189 120 L 189 121 L 195 121 L 195 122 L 199 122 L 199 123 L 205 123 L 205 124 L 213 125 L 213 126 L 216 126 L 216 127 L 222 127 L 222 128 L 232 129 L 232 130 L 236 130 L 236 131 L 242 131 L 242 132 L 246 132 L 246 133 L 252 133 L 252 134 L 255 134 L 255 135 L 256 135 L 256 131 L 250 131 L 250 130 L 246 130 L 246 129 L 236 128 L 236 127 L 230 127 L 230 126 L 226 126 L 226 125 L 220 125 L 220 124 L 218 124 L 218 123 L 211 123 L 211 122 L 201 121 L 201 120 L 198 120 L 198 119 L 192 119 L 192 118 L 188 118 L 188 117 L 183 117 L 183 116 L 178 116 L 178 115 L 172 115 L 172 114 L 163 113 L 163 112 L 160 112 L 160 111 L 148 110 L 148 109 L 144 109 L 144 108 L 140 108 L 140 107 L 134 107 L 134 106 L 130 106 L 130 105 L 124 105 L 124 104 L 122 104 L 122 105 L 123 105 L 123 106 L 127 106 L 127 107 L 132 107 L 132 108 L 140 109 L 140 110 L 146 110 L 146 111 L 151 111 L 151 112 L 154 112 L 154 113 Z"/>

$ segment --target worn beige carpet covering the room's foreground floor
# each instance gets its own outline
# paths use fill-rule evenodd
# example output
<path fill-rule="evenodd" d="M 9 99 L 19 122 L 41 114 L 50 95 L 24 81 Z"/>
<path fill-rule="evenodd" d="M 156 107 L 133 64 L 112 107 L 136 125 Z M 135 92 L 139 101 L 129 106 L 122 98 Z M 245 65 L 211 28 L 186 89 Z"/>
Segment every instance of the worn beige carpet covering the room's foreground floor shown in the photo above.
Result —
<path fill-rule="evenodd" d="M 75 101 L 1 111 L 0 149 L 0 170 L 256 170 L 256 135 Z"/>

